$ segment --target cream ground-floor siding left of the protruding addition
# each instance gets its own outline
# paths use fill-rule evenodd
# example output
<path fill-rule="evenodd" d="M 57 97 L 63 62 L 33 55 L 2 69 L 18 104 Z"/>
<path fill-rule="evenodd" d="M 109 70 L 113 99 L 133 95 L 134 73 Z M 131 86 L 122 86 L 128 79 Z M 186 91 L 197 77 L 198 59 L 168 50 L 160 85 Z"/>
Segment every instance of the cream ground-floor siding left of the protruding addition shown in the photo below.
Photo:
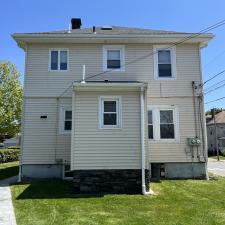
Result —
<path fill-rule="evenodd" d="M 58 128 L 60 108 L 68 106 L 71 107 L 68 98 L 60 99 L 58 106 L 56 98 L 25 99 L 23 164 L 53 164 L 56 159 L 70 161 L 71 131 L 64 135 Z M 41 115 L 47 115 L 47 119 L 41 119 Z"/>

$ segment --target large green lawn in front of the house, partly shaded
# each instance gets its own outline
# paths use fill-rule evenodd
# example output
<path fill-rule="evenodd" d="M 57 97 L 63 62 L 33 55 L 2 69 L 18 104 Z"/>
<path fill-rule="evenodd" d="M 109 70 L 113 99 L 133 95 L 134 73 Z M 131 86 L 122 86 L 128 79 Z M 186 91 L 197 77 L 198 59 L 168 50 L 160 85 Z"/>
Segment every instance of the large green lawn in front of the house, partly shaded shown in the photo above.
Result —
<path fill-rule="evenodd" d="M 152 183 L 157 195 L 74 195 L 71 183 L 11 186 L 18 225 L 225 224 L 225 179 Z"/>

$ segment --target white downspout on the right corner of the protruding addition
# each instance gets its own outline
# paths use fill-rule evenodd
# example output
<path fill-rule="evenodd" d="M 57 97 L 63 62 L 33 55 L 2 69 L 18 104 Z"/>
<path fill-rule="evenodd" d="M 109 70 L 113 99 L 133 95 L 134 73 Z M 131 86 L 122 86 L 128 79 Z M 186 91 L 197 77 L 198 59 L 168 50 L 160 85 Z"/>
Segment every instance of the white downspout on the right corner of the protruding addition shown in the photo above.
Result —
<path fill-rule="evenodd" d="M 142 194 L 150 195 L 153 191 L 150 189 L 146 191 L 145 184 L 145 117 L 144 117 L 144 87 L 141 87 L 140 93 L 141 101 L 141 183 L 142 183 Z"/>

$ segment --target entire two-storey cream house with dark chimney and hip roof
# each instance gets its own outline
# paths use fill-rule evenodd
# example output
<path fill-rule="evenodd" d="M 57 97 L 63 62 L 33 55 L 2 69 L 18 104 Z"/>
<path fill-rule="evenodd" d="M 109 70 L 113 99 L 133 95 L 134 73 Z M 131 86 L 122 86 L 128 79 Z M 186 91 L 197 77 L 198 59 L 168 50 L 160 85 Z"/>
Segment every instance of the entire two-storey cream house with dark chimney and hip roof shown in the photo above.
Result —
<path fill-rule="evenodd" d="M 70 175 L 83 192 L 145 192 L 149 173 L 206 177 L 203 101 L 193 91 L 213 35 L 81 29 L 76 19 L 72 28 L 13 34 L 26 53 L 20 175 Z"/>

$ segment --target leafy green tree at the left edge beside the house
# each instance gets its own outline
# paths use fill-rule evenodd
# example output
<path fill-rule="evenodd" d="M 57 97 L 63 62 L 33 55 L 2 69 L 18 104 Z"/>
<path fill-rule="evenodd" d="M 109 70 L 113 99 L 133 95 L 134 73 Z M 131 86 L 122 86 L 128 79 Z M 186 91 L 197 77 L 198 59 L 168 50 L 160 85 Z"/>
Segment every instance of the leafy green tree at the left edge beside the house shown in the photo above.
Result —
<path fill-rule="evenodd" d="M 20 131 L 23 87 L 10 62 L 0 62 L 0 142 Z"/>

